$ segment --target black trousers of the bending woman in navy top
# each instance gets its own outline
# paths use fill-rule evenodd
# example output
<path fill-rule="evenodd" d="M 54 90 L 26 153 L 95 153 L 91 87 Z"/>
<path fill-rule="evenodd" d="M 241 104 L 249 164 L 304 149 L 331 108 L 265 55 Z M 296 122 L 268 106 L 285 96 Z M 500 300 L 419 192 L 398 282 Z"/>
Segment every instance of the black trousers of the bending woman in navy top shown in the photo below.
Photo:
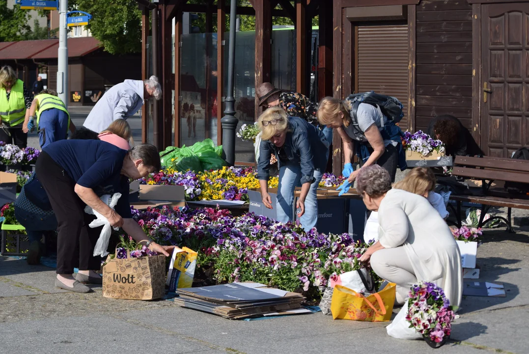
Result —
<path fill-rule="evenodd" d="M 57 217 L 57 274 L 72 274 L 76 266 L 101 268 L 102 258 L 93 253 L 102 228 L 89 228 L 95 216 L 84 212 L 86 204 L 74 192 L 75 181 L 45 151 L 37 159 L 35 173 Z"/>

